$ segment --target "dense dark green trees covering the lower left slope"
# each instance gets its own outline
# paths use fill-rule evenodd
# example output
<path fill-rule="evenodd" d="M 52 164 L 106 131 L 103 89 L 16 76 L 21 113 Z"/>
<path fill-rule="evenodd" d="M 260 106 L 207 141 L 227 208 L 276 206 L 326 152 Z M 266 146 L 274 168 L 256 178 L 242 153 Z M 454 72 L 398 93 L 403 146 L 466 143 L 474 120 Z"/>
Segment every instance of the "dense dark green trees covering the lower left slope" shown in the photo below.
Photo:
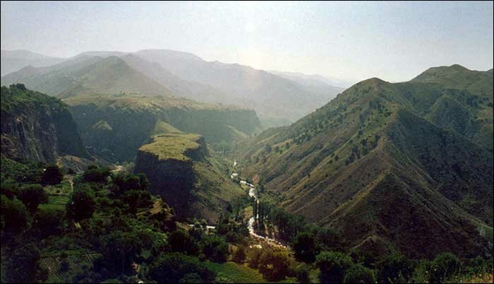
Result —
<path fill-rule="evenodd" d="M 204 220 L 177 226 L 143 174 L 90 166 L 61 182 L 63 174 L 2 157 L 1 282 L 211 282 L 205 261 L 231 258 L 227 239 L 246 246 L 245 226 L 228 218 L 217 232 Z"/>

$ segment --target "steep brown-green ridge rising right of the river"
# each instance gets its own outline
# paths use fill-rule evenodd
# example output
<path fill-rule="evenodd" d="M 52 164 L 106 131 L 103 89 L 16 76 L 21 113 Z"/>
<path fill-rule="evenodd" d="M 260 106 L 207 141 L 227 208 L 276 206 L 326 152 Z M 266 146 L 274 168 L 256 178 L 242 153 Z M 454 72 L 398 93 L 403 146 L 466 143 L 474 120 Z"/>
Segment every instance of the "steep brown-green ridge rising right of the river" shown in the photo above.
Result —
<path fill-rule="evenodd" d="M 492 133 L 492 95 L 482 95 L 492 77 L 490 84 L 471 93 L 362 81 L 299 122 L 239 146 L 242 174 L 277 192 L 289 211 L 341 230 L 348 247 L 381 239 L 414 257 L 479 254 L 492 242 L 493 138 L 471 125 L 481 121 Z M 402 194 L 386 199 L 390 190 Z M 407 225 L 397 228 L 390 216 Z M 435 248 L 406 247 L 403 240 L 426 232 Z"/>

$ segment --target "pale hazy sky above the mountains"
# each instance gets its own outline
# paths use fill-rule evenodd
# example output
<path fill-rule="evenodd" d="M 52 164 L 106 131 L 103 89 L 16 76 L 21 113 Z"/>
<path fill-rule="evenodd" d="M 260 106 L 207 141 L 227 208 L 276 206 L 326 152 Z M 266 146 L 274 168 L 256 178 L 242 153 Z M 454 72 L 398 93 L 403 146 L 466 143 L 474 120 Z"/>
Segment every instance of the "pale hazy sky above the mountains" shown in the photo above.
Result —
<path fill-rule="evenodd" d="M 493 68 L 493 2 L 8 2 L 1 49 L 174 49 L 258 69 L 407 81 Z"/>

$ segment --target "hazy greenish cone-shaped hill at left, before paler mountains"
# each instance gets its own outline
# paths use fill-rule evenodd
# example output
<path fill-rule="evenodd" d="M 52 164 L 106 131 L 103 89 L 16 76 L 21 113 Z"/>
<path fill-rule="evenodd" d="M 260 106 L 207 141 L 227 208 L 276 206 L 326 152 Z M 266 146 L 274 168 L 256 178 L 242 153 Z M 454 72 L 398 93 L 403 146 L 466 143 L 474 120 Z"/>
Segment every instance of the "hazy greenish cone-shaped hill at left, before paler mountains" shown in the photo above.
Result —
<path fill-rule="evenodd" d="M 77 57 L 50 67 L 26 67 L 1 78 L 2 84 L 18 82 L 56 97 L 121 92 L 171 95 L 167 88 L 115 56 Z"/>

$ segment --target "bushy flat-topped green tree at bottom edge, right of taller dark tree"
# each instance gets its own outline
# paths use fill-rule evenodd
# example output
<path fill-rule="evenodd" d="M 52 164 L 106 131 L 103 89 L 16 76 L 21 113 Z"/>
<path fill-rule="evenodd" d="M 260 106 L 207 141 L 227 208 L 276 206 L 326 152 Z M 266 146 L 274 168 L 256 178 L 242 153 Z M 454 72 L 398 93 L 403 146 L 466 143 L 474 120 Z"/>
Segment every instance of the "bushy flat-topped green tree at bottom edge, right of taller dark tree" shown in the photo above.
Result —
<path fill-rule="evenodd" d="M 353 264 L 351 257 L 341 252 L 321 252 L 315 256 L 321 283 L 341 283 L 345 271 Z"/>

